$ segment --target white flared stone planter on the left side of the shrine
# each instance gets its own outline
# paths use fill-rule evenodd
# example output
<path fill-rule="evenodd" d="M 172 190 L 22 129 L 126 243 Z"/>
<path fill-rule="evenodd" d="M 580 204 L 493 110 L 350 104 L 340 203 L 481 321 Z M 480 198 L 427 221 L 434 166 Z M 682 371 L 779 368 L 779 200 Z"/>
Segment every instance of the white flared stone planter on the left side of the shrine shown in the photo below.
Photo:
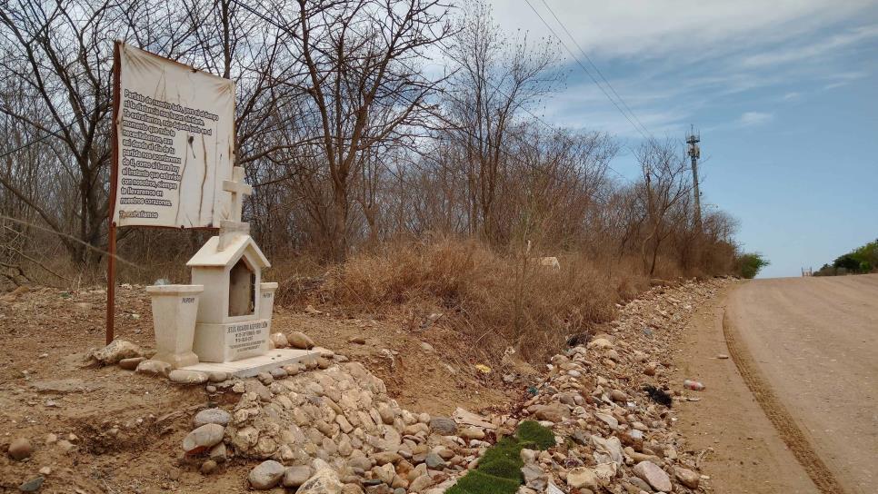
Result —
<path fill-rule="evenodd" d="M 153 300 L 156 361 L 165 361 L 175 369 L 195 365 L 198 356 L 192 351 L 198 297 L 205 285 L 154 285 L 146 287 Z"/>

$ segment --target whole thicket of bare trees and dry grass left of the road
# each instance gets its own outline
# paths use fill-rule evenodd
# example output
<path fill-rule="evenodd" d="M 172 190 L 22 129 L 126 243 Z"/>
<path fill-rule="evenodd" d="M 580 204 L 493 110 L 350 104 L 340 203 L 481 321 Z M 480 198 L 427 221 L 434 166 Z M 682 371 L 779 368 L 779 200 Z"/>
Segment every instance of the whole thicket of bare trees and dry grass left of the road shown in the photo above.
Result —
<path fill-rule="evenodd" d="M 413 330 L 442 314 L 536 359 L 656 280 L 743 273 L 733 218 L 695 216 L 683 136 L 546 123 L 558 46 L 482 2 L 28 5 L 0 12 L 0 131 L 21 148 L 0 167 L 4 289 L 105 282 L 115 39 L 235 81 L 244 220 L 281 302 Z M 188 281 L 211 234 L 122 229 L 119 281 Z"/>

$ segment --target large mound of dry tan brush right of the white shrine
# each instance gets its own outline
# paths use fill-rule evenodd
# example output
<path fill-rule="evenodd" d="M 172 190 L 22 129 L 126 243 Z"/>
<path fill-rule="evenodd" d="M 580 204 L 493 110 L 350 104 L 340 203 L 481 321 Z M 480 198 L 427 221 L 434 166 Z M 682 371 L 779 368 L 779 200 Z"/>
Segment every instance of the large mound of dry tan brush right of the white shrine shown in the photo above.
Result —
<path fill-rule="evenodd" d="M 575 333 L 610 321 L 615 303 L 646 280 L 577 253 L 552 269 L 521 252 L 497 253 L 454 238 L 385 243 L 327 273 L 322 301 L 361 311 L 432 306 L 472 344 L 499 357 L 513 346 L 540 361 Z M 615 272 L 615 274 L 614 274 Z"/>

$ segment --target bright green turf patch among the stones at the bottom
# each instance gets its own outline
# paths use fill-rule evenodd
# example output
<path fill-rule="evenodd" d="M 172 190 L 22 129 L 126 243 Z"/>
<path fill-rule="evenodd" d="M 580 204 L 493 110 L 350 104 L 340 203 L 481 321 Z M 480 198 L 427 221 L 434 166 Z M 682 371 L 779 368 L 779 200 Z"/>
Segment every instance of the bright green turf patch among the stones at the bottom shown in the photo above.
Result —
<path fill-rule="evenodd" d="M 478 469 L 457 480 L 446 494 L 515 494 L 524 482 L 522 450 L 546 450 L 554 446 L 551 430 L 533 420 L 518 426 L 515 436 L 499 440 L 484 452 Z"/>

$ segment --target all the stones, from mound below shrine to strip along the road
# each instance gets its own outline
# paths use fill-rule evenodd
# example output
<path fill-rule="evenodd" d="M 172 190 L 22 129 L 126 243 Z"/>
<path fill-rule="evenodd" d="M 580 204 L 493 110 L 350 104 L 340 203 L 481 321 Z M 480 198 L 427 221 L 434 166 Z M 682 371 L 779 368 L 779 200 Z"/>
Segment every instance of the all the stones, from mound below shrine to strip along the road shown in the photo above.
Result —
<path fill-rule="evenodd" d="M 248 475 L 253 489 L 442 494 L 477 466 L 488 440 L 527 419 L 551 427 L 558 445 L 523 451 L 522 494 L 706 491 L 697 452 L 672 430 L 673 410 L 643 386 L 684 399 L 680 383 L 668 380 L 671 345 L 693 308 L 724 283 L 656 287 L 628 303 L 604 333 L 555 355 L 514 417 L 454 420 L 404 410 L 362 364 L 320 349 L 310 372 L 295 365 L 216 382 L 240 400 L 231 410 L 196 414 L 184 450 L 205 474 L 233 455 L 261 460 Z"/>

